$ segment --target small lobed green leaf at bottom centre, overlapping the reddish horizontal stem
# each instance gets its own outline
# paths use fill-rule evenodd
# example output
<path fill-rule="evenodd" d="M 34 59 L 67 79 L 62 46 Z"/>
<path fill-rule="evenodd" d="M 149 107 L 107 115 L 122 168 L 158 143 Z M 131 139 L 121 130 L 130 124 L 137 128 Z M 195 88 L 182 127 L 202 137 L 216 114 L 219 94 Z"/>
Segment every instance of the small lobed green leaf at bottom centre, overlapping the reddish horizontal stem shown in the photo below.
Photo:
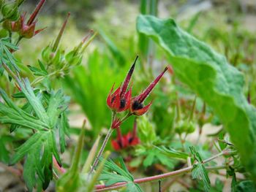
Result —
<path fill-rule="evenodd" d="M 117 166 L 112 160 L 106 161 L 105 168 L 109 169 L 109 171 L 103 170 L 99 180 L 105 180 L 106 186 L 119 182 L 125 182 L 127 183 L 125 191 L 142 192 L 140 185 L 134 183 L 134 178 L 127 170 L 122 158 L 119 158 L 119 163 L 121 164 L 121 167 Z"/>

